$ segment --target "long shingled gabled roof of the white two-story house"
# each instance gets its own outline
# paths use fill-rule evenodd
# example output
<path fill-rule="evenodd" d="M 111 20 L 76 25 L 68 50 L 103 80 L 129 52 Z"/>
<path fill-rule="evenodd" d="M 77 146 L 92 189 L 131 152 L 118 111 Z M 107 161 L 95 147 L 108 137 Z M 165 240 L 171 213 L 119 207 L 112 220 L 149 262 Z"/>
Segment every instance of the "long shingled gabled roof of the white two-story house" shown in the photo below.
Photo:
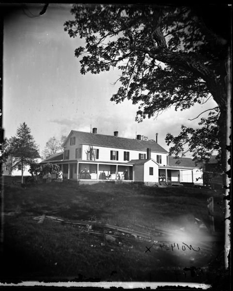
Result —
<path fill-rule="evenodd" d="M 71 130 L 68 138 L 71 134 L 77 137 L 78 144 L 104 146 L 112 148 L 123 148 L 128 150 L 141 150 L 146 151 L 147 148 L 151 148 L 152 152 L 167 153 L 166 149 L 159 146 L 156 142 L 140 141 L 137 139 L 130 139 L 124 137 L 115 137 L 114 135 L 106 134 L 94 134 L 90 132 L 83 132 L 77 130 Z M 65 144 L 65 143 L 64 143 Z M 63 145 L 64 145 L 63 144 Z"/>

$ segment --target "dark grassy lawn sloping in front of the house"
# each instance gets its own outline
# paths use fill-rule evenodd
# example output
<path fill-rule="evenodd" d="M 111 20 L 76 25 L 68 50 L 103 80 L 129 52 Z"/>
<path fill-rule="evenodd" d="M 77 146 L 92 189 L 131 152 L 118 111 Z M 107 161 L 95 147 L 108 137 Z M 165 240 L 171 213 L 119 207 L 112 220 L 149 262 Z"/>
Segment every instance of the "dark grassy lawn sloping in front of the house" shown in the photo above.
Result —
<path fill-rule="evenodd" d="M 194 218 L 209 227 L 207 198 L 214 196 L 216 231 L 224 232 L 218 191 L 187 187 L 144 187 L 132 183 L 77 185 L 75 182 L 39 184 L 22 188 L 3 185 L 3 258 L 1 282 L 15 280 L 75 281 L 187 281 L 208 282 L 222 243 L 207 243 L 200 251 L 165 247 L 154 238 L 156 227 L 180 230 L 190 236 L 201 230 Z M 145 232 L 152 241 L 112 230 L 33 218 L 47 215 L 88 220 Z M 99 232 L 100 234 L 93 234 Z M 161 239 L 162 241 L 162 239 Z M 172 243 L 182 242 L 182 238 Z M 154 243 L 154 244 L 153 244 Z M 187 244 L 189 242 L 186 242 Z M 189 245 L 189 244 L 188 244 Z M 169 250 L 168 250 L 169 246 Z M 193 242 L 193 248 L 200 246 Z M 150 248 L 151 247 L 151 248 Z M 149 249 L 150 248 L 150 249 Z M 149 249 L 149 251 L 147 251 Z M 166 250 L 167 249 L 167 250 Z M 218 257 L 217 257 L 218 258 Z M 218 262 L 219 265 L 219 262 Z M 184 271 L 184 268 L 185 271 Z M 194 270 L 194 273 L 193 273 Z M 211 271 L 212 270 L 212 271 Z"/>

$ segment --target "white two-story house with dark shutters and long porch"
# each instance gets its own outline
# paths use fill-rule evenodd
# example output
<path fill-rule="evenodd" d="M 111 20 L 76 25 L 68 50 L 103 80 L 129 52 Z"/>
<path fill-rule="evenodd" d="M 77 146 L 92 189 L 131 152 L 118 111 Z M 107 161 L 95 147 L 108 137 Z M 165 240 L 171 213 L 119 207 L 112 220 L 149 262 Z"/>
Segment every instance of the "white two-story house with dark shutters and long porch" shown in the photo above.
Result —
<path fill-rule="evenodd" d="M 141 135 L 137 139 L 119 137 L 118 131 L 105 135 L 98 134 L 96 128 L 92 133 L 71 130 L 62 146 L 63 154 L 53 155 L 42 164 L 59 164 L 67 179 L 82 179 L 84 168 L 93 180 L 101 180 L 103 171 L 111 175 L 110 179 L 124 180 L 127 170 L 128 181 L 138 182 L 196 182 L 202 175 L 191 159 L 183 158 L 177 166 L 157 143 L 157 135 L 156 141 L 144 141 Z"/>

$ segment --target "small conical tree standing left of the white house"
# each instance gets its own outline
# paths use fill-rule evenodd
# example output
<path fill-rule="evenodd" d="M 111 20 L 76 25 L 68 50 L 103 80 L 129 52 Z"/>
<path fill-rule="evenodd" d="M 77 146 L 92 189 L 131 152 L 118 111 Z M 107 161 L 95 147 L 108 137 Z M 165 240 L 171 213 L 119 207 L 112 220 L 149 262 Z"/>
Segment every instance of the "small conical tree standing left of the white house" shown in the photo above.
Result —
<path fill-rule="evenodd" d="M 16 136 L 9 139 L 8 155 L 12 157 L 10 170 L 21 167 L 21 182 L 25 166 L 35 162 L 38 158 L 39 146 L 35 144 L 31 129 L 24 122 L 16 131 Z"/>

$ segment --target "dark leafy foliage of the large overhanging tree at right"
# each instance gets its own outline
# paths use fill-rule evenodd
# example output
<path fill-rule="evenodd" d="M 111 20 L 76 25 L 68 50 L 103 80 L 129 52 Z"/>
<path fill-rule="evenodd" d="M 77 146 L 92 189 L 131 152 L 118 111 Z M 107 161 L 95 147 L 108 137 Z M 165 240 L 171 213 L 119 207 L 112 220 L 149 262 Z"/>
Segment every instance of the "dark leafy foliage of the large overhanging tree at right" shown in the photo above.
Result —
<path fill-rule="evenodd" d="M 139 122 L 167 108 L 185 110 L 213 97 L 219 112 L 202 119 L 200 130 L 182 126 L 177 138 L 167 136 L 168 143 L 175 144 L 171 153 L 181 152 L 186 141 L 199 159 L 206 159 L 211 152 L 210 143 L 203 139 L 210 127 L 209 137 L 217 133 L 219 146 L 215 147 L 226 145 L 225 61 L 231 11 L 227 6 L 208 5 L 207 10 L 205 6 L 75 4 L 71 9 L 75 19 L 64 23 L 70 37 L 86 41 L 85 47 L 75 50 L 75 56 L 82 57 L 81 74 L 98 74 L 115 67 L 121 70 L 121 86 L 111 101 L 131 99 L 133 104 L 139 103 Z M 202 14 L 204 10 L 212 21 Z M 216 21 L 218 29 L 213 25 Z"/>

